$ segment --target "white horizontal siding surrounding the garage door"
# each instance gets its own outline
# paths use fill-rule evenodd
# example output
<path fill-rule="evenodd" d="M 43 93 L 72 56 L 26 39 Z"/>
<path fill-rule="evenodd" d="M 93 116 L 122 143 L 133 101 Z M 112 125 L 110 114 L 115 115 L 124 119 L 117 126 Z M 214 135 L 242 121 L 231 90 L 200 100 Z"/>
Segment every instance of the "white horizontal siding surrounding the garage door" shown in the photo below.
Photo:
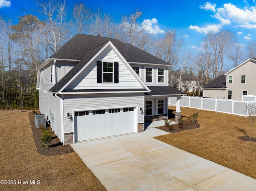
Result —
<path fill-rule="evenodd" d="M 64 95 L 64 133 L 72 132 L 72 122 L 67 119 L 66 112 L 72 110 L 101 110 L 118 108 L 119 106 L 138 106 L 144 108 L 144 93 L 132 94 L 93 94 L 93 95 Z M 104 107 L 104 108 L 103 108 Z M 72 114 L 73 116 L 73 114 Z M 144 115 L 137 109 L 138 123 L 144 122 Z"/>

